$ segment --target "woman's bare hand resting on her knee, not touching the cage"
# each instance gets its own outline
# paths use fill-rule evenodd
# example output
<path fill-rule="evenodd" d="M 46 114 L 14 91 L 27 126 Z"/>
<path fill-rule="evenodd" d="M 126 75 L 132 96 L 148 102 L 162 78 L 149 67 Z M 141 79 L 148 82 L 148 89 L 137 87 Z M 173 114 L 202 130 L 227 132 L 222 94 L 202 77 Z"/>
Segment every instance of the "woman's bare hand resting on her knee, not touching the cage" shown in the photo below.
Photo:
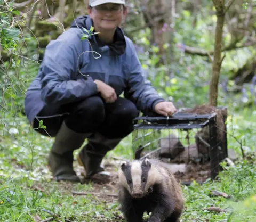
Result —
<path fill-rule="evenodd" d="M 94 83 L 97 85 L 98 92 L 100 92 L 101 97 L 105 100 L 106 103 L 113 103 L 116 101 L 117 95 L 114 88 L 98 79 L 94 80 Z"/>

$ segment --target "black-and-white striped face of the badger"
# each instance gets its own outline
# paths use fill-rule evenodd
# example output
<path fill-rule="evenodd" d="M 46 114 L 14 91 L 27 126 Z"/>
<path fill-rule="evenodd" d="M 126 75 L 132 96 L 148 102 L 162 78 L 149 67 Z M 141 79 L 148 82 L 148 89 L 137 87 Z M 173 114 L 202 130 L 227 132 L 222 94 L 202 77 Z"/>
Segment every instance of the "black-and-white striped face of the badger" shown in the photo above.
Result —
<path fill-rule="evenodd" d="M 123 161 L 119 169 L 119 183 L 133 198 L 143 198 L 154 184 L 151 172 L 152 166 L 147 158 L 142 161 Z"/>

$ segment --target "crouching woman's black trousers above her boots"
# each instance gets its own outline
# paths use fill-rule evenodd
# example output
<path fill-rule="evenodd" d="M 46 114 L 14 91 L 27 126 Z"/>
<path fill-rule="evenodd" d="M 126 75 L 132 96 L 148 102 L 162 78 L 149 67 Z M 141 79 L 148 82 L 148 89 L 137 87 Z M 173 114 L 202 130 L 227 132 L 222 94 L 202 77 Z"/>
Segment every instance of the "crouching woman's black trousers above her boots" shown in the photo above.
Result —
<path fill-rule="evenodd" d="M 114 103 L 105 103 L 97 95 L 59 108 L 45 106 L 35 118 L 33 127 L 38 133 L 55 137 L 65 121 L 77 133 L 99 132 L 109 139 L 124 138 L 133 131 L 132 120 L 138 115 L 136 106 L 126 98 L 118 97 Z M 46 129 L 36 129 L 38 120 L 43 120 Z"/>

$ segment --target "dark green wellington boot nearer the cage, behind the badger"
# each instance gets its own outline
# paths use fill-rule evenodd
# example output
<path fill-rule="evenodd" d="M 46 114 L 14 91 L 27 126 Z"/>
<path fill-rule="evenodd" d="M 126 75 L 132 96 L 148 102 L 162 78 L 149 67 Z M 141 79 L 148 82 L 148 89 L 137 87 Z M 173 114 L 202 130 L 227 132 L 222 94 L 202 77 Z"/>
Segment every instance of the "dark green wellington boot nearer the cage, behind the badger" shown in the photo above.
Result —
<path fill-rule="evenodd" d="M 88 138 L 88 143 L 81 149 L 77 155 L 79 165 L 83 166 L 86 172 L 86 178 L 95 174 L 104 174 L 109 176 L 101 166 L 102 159 L 108 151 L 113 150 L 122 138 L 107 139 L 96 133 Z"/>

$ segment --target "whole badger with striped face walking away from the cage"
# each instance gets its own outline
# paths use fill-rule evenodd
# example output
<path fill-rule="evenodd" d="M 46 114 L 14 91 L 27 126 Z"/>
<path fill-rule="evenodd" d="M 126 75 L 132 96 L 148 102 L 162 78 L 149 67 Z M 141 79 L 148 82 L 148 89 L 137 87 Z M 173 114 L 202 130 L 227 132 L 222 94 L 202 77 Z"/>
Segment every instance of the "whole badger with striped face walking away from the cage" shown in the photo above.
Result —
<path fill-rule="evenodd" d="M 183 211 L 181 186 L 167 163 L 156 159 L 122 161 L 118 168 L 118 202 L 127 222 L 177 222 Z"/>

